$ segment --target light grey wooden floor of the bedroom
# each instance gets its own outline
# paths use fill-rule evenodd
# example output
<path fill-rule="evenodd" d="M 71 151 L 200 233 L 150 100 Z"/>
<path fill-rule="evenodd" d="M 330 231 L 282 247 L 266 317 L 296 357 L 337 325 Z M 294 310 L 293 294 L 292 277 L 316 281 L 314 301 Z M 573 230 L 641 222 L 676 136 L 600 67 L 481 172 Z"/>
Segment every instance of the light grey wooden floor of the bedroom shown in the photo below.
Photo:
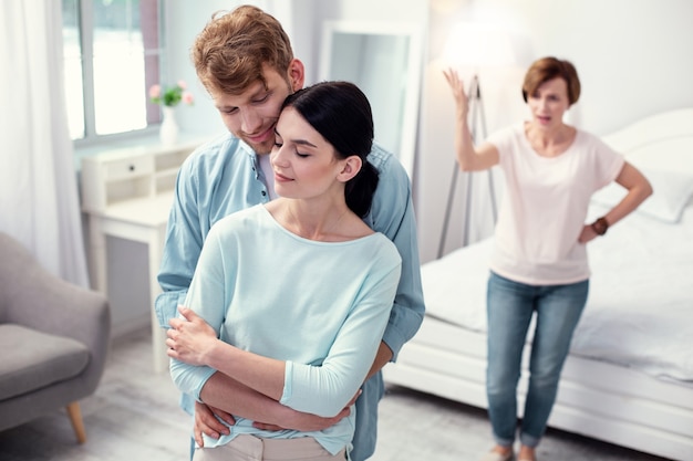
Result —
<path fill-rule="evenodd" d="M 82 401 L 87 441 L 77 446 L 64 411 L 0 432 L 1 461 L 187 461 L 189 418 L 167 374 L 152 373 L 147 329 L 116 340 L 104 378 Z M 476 461 L 489 447 L 486 412 L 390 387 L 380 405 L 373 461 Z M 549 430 L 540 461 L 661 458 Z"/>

